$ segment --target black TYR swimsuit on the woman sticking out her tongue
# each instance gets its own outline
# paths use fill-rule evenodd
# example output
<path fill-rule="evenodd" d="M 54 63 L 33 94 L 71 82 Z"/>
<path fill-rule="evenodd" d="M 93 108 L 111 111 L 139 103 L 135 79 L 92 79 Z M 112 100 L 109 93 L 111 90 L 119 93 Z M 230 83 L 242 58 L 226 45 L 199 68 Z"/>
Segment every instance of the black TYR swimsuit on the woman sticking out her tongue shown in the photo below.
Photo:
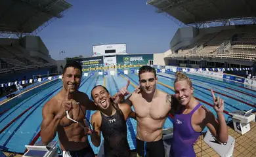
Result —
<path fill-rule="evenodd" d="M 116 107 L 115 107 L 116 106 Z M 116 113 L 112 116 L 101 114 L 100 130 L 104 137 L 104 154 L 106 157 L 129 157 L 131 150 L 127 141 L 127 126 L 123 112 L 113 105 Z"/>

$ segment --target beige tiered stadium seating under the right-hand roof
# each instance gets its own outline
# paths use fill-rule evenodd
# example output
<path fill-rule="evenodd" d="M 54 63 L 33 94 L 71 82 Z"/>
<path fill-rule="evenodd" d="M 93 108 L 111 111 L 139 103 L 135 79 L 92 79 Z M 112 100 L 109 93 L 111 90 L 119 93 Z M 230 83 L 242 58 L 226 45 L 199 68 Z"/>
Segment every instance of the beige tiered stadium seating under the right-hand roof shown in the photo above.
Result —
<path fill-rule="evenodd" d="M 256 59 L 256 27 L 224 29 L 203 35 L 198 41 L 178 50 L 171 57 L 228 58 L 234 60 Z"/>

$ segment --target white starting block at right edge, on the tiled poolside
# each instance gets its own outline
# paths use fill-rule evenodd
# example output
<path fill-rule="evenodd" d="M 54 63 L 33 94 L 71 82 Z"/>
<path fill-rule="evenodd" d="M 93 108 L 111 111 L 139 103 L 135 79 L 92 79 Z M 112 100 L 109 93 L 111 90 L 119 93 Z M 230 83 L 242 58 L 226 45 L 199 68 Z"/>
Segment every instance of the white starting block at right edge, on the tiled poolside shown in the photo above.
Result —
<path fill-rule="evenodd" d="M 249 111 L 234 111 L 230 113 L 232 115 L 234 130 L 238 133 L 244 135 L 247 131 L 251 130 L 250 122 L 255 121 L 255 114 L 251 113 L 252 109 Z"/>

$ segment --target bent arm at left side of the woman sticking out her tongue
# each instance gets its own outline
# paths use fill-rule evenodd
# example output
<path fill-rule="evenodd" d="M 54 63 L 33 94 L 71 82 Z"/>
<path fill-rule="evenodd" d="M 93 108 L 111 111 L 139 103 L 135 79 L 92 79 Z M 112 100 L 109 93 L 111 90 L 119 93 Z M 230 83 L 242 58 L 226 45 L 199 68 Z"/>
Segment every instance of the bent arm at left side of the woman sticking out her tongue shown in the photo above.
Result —
<path fill-rule="evenodd" d="M 91 124 L 93 125 L 93 130 L 91 134 L 91 141 L 95 147 L 100 146 L 100 117 L 98 113 L 95 113 L 91 116 Z"/>

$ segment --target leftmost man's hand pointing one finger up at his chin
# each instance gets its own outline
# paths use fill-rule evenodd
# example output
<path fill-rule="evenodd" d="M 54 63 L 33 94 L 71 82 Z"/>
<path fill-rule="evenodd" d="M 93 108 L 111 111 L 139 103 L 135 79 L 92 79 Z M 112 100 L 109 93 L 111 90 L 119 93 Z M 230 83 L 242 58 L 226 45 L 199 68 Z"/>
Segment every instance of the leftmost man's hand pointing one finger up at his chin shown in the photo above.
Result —
<path fill-rule="evenodd" d="M 58 101 L 60 104 L 60 110 L 56 114 L 57 118 L 63 118 L 66 116 L 66 111 L 70 111 L 72 109 L 72 101 L 70 101 L 70 89 L 68 88 L 66 96 L 64 97 L 63 100 Z"/>

